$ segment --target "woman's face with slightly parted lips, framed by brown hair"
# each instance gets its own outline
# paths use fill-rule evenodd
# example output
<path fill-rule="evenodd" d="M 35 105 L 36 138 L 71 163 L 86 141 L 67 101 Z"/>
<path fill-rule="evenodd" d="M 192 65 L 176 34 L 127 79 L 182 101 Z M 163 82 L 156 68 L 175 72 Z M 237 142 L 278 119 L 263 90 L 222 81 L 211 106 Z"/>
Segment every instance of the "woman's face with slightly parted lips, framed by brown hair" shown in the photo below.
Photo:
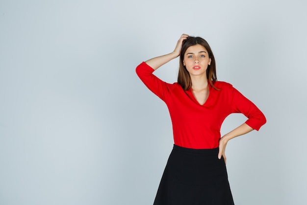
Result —
<path fill-rule="evenodd" d="M 200 44 L 190 46 L 184 53 L 183 65 L 191 76 L 205 75 L 206 77 L 206 70 L 210 63 L 208 51 Z"/>

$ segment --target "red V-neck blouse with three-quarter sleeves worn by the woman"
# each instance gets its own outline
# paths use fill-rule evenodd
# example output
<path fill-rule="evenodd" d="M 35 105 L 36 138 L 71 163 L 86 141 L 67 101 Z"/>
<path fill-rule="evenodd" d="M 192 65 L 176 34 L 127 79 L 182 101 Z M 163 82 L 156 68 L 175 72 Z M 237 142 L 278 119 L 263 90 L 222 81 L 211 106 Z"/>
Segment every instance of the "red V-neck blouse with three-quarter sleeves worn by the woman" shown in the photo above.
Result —
<path fill-rule="evenodd" d="M 209 85 L 209 96 L 204 105 L 195 99 L 191 89 L 184 91 L 178 83 L 165 83 L 155 75 L 153 68 L 142 62 L 136 73 L 142 82 L 167 105 L 173 123 L 174 144 L 205 149 L 219 146 L 221 125 L 231 113 L 242 113 L 246 124 L 253 129 L 266 122 L 262 112 L 229 83 Z"/>

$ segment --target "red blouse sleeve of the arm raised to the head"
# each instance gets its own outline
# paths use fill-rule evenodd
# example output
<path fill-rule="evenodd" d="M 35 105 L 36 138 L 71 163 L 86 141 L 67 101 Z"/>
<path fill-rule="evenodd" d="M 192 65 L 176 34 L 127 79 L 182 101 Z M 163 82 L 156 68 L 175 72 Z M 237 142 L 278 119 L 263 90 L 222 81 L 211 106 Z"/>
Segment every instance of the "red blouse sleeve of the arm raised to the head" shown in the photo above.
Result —
<path fill-rule="evenodd" d="M 136 74 L 154 94 L 161 98 L 164 102 L 175 88 L 176 84 L 168 84 L 153 75 L 154 69 L 145 62 L 142 62 L 136 67 Z"/>

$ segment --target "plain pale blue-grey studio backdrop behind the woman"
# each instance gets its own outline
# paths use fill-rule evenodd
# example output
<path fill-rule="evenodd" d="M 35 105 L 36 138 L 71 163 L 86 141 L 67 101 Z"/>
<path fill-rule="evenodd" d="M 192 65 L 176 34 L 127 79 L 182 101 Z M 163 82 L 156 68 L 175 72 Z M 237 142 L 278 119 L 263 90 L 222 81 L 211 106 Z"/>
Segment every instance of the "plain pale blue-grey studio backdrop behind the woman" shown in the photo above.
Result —
<path fill-rule="evenodd" d="M 204 37 L 267 117 L 228 143 L 236 205 L 306 205 L 307 1 L 1 0 L 0 204 L 150 205 L 173 146 L 135 74 Z M 177 81 L 179 59 L 155 74 Z M 246 120 L 230 115 L 221 133 Z"/>

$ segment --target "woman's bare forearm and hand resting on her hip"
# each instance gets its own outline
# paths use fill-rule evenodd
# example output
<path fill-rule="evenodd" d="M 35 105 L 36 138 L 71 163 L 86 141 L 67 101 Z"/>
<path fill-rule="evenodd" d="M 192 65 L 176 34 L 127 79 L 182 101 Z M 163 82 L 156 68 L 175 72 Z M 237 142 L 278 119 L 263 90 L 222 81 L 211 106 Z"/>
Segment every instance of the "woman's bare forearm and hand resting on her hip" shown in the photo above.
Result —
<path fill-rule="evenodd" d="M 235 137 L 238 137 L 240 135 L 244 135 L 246 133 L 249 133 L 249 132 L 251 132 L 253 130 L 254 129 L 252 127 L 250 127 L 246 123 L 243 123 L 240 126 L 238 126 L 237 128 L 235 128 L 234 130 L 232 130 L 231 132 L 229 132 L 226 135 L 224 135 L 220 139 L 218 158 L 221 159 L 221 157 L 223 156 L 223 158 L 225 160 L 225 164 L 226 164 L 225 149 L 226 149 L 228 141 L 230 141 L 231 139 L 233 139 Z"/>

